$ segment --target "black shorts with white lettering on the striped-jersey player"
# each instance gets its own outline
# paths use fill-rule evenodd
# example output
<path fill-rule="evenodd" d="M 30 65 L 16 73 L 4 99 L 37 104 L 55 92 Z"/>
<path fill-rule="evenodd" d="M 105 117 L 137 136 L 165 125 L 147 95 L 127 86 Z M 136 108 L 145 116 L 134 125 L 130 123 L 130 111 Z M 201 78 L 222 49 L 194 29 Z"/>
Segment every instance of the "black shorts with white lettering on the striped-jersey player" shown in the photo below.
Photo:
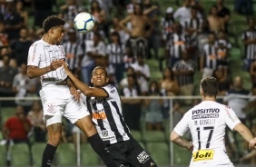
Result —
<path fill-rule="evenodd" d="M 150 155 L 134 139 L 113 143 L 107 147 L 113 160 L 123 164 L 123 167 L 157 167 Z"/>

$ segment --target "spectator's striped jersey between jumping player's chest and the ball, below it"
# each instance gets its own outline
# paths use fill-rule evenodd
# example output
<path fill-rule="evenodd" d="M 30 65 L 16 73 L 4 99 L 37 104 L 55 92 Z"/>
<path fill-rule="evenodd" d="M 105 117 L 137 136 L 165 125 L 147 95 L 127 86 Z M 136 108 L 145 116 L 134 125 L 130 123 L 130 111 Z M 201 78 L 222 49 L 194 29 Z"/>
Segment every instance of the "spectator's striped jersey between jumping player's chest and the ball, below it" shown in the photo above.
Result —
<path fill-rule="evenodd" d="M 83 55 L 83 49 L 80 44 L 67 41 L 63 44 L 66 52 L 66 62 L 69 64 L 69 69 L 74 71 L 78 67 L 79 56 Z"/>

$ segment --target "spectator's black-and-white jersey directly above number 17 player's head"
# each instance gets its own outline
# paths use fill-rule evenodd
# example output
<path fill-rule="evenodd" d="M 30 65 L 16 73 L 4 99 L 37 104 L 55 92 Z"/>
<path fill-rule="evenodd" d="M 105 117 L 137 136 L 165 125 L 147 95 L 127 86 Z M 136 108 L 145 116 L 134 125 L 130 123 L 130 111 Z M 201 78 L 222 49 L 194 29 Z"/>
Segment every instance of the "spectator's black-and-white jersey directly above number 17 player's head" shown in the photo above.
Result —
<path fill-rule="evenodd" d="M 217 68 L 217 50 L 215 45 L 205 44 L 203 46 L 203 56 L 204 56 L 204 67 L 210 69 Z"/>

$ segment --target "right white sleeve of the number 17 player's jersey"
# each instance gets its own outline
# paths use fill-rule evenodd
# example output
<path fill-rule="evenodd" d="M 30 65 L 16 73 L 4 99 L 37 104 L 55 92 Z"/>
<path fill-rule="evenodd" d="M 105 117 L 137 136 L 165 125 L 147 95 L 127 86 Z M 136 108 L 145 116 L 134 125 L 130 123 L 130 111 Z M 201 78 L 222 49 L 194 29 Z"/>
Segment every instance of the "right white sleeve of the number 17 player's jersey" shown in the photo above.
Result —
<path fill-rule="evenodd" d="M 241 123 L 240 119 L 236 116 L 234 111 L 229 106 L 225 106 L 225 112 L 223 113 L 225 116 L 225 123 L 229 126 L 231 130 L 237 125 L 238 123 Z"/>

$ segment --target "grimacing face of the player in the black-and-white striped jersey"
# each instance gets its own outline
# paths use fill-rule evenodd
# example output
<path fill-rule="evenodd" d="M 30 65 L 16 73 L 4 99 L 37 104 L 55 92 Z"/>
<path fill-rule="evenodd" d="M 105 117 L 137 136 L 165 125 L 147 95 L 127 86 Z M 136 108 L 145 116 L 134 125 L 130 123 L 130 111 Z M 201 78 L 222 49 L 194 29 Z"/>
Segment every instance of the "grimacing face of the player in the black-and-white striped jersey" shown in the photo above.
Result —
<path fill-rule="evenodd" d="M 94 87 L 103 87 L 108 82 L 107 74 L 103 69 L 95 69 L 93 72 L 93 77 L 91 82 L 94 84 Z"/>

